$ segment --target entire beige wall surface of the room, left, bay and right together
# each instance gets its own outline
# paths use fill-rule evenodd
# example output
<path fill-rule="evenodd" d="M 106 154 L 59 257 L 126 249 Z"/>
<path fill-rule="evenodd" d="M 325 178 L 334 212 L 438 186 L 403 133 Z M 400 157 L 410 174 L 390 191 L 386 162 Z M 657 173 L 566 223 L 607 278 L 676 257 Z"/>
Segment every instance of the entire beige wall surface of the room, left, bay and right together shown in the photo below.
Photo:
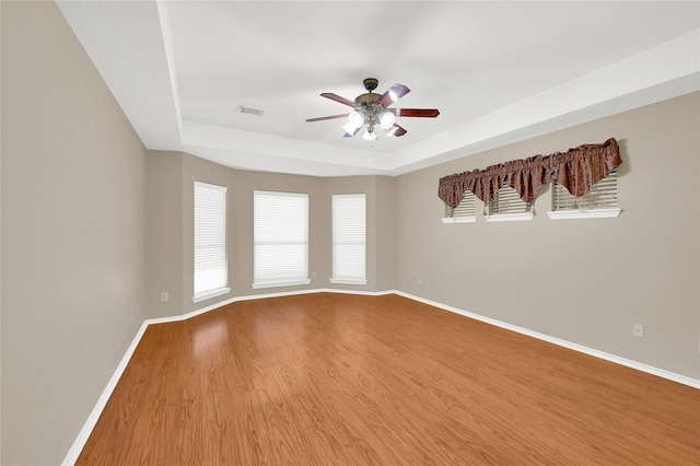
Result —
<path fill-rule="evenodd" d="M 331 288 L 331 194 L 368 194 L 369 283 L 334 288 L 398 289 L 700 378 L 700 94 L 396 178 L 242 172 L 147 154 L 56 5 L 0 5 L 2 464 L 62 461 L 144 316 Z M 530 222 L 440 222 L 441 176 L 608 137 L 620 218 L 549 220 L 545 190 Z M 195 179 L 230 187 L 232 286 L 197 304 Z M 254 189 L 310 193 L 310 286 L 252 289 Z"/>

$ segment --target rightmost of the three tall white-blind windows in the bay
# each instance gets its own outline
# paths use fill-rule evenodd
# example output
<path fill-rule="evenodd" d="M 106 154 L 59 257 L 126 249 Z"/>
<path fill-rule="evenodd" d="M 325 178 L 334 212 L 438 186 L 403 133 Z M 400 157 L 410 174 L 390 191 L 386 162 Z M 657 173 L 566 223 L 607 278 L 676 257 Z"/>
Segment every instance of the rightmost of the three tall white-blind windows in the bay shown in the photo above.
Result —
<path fill-rule="evenodd" d="M 366 284 L 366 196 L 332 196 L 331 283 Z"/>

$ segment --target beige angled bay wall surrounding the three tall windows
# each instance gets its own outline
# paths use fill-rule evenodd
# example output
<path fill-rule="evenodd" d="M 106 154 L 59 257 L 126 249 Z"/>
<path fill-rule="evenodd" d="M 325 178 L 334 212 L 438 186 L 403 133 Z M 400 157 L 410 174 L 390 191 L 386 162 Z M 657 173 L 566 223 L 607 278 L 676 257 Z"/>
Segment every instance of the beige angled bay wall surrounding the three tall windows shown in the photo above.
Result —
<path fill-rule="evenodd" d="M 394 287 L 393 178 L 246 172 L 179 152 L 149 151 L 147 212 L 148 317 L 186 314 L 234 296 L 319 288 L 381 291 Z M 192 303 L 194 182 L 226 186 L 229 286 L 231 292 Z M 253 289 L 253 191 L 310 195 L 308 286 Z M 368 284 L 331 284 L 331 195 L 368 195 Z M 168 302 L 161 302 L 167 292 Z"/>

